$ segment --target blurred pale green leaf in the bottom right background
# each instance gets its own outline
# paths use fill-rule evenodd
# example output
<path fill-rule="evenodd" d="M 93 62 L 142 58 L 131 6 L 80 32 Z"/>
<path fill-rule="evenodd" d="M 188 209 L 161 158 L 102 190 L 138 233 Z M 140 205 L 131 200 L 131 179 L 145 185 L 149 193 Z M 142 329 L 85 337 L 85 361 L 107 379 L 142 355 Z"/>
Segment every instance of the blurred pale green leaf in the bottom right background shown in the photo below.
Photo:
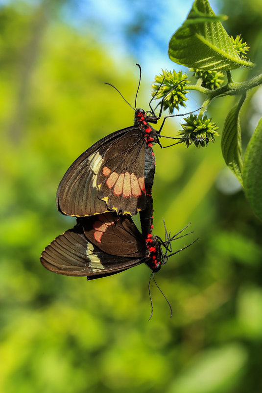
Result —
<path fill-rule="evenodd" d="M 176 378 L 168 393 L 232 392 L 246 362 L 247 351 L 242 345 L 229 344 L 207 350 Z"/>

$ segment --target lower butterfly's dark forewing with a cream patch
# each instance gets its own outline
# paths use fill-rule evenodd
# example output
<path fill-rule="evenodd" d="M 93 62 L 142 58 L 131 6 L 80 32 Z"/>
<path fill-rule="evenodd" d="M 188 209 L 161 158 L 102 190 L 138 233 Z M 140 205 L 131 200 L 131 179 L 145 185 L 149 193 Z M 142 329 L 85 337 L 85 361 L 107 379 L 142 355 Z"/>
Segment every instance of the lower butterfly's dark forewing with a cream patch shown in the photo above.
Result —
<path fill-rule="evenodd" d="M 57 236 L 43 251 L 40 261 L 48 270 L 66 276 L 105 277 L 144 262 L 144 258 L 107 254 L 91 243 L 81 225 Z"/>

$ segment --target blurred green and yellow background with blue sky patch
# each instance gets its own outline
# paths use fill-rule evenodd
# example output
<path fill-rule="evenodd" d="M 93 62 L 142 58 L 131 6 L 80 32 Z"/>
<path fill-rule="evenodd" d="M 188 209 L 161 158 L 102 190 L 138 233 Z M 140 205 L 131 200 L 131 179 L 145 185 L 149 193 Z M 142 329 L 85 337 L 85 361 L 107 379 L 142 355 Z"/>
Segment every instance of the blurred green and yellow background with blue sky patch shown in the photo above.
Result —
<path fill-rule="evenodd" d="M 262 1 L 211 1 L 229 16 L 261 69 Z M 154 76 L 179 71 L 168 41 L 189 0 L 0 1 L 0 392 L 255 393 L 262 391 L 262 227 L 233 175 L 220 141 L 207 149 L 155 146 L 154 232 L 191 222 L 194 235 L 156 275 L 145 265 L 87 282 L 45 270 L 44 247 L 74 225 L 55 193 L 84 150 L 147 108 Z M 201 105 L 189 94 L 188 109 Z M 209 115 L 222 130 L 234 98 Z M 261 90 L 242 109 L 245 147 L 262 115 Z M 182 111 L 183 113 L 183 111 Z M 181 120 L 182 121 L 182 120 Z M 164 128 L 179 129 L 170 119 Z M 138 221 L 137 221 L 138 222 Z"/>

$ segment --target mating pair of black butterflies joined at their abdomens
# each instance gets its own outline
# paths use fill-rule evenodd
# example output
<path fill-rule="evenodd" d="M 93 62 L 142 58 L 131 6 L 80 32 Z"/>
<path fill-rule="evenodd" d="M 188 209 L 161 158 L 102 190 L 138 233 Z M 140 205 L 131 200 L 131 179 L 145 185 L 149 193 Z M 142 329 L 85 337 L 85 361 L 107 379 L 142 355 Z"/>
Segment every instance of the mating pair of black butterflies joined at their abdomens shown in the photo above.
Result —
<path fill-rule="evenodd" d="M 154 130 L 149 123 L 159 120 L 163 101 L 159 116 L 150 103 L 151 111 L 135 110 L 134 126 L 96 142 L 64 175 L 56 194 L 57 208 L 77 217 L 77 225 L 43 251 L 41 263 L 49 270 L 94 279 L 143 262 L 158 271 L 167 262 L 176 236 L 170 238 L 167 231 L 165 241 L 152 236 L 151 196 L 155 173 L 152 144 L 161 146 L 160 131 L 166 118 L 160 131 Z M 138 211 L 142 234 L 129 216 Z"/>

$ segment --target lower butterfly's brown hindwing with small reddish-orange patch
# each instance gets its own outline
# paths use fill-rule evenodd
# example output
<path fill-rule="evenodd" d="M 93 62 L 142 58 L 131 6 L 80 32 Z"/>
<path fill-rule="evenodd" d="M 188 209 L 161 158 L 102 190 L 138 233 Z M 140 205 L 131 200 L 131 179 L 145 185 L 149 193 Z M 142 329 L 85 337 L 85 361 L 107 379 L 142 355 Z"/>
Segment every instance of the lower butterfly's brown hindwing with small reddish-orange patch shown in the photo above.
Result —
<path fill-rule="evenodd" d="M 79 223 L 85 236 L 107 254 L 133 258 L 145 256 L 143 236 L 129 216 L 104 213 L 81 218 Z"/>

